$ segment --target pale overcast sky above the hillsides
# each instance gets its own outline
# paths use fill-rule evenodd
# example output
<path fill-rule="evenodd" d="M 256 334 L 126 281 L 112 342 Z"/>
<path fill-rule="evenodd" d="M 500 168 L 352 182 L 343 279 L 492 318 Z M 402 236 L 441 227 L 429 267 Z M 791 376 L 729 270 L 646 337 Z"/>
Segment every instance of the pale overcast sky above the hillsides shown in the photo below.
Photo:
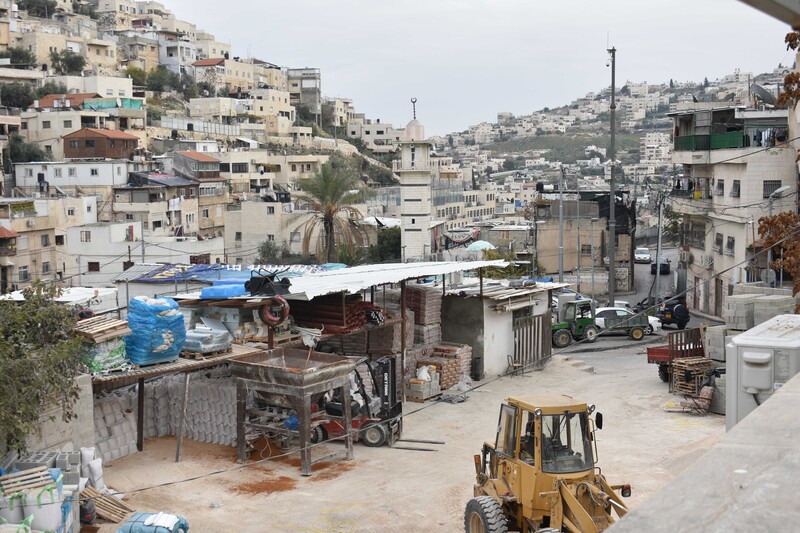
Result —
<path fill-rule="evenodd" d="M 428 135 L 617 84 L 791 65 L 789 27 L 738 0 L 163 0 L 234 55 L 318 67 L 326 96 Z"/>

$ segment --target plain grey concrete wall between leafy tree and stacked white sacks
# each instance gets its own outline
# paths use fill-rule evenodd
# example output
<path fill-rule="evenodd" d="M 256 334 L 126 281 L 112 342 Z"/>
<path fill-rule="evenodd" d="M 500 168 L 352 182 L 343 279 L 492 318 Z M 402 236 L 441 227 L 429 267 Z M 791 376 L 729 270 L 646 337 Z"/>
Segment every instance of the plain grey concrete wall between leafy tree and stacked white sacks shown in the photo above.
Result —
<path fill-rule="evenodd" d="M 75 381 L 80 389 L 78 400 L 73 406 L 76 418 L 64 422 L 61 407 L 46 407 L 39 417 L 36 429 L 26 440 L 28 450 L 60 451 L 69 446 L 78 449 L 93 445 L 92 378 L 88 374 L 81 374 Z"/>

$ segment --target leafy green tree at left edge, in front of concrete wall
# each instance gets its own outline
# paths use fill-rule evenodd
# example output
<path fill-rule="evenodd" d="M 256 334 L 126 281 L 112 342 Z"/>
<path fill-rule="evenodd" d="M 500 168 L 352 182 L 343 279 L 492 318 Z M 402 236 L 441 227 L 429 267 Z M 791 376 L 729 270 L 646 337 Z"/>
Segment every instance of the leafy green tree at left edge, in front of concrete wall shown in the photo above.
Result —
<path fill-rule="evenodd" d="M 58 291 L 37 282 L 24 301 L 0 301 L 0 439 L 10 449 L 24 449 L 48 405 L 59 405 L 64 421 L 75 417 L 83 345 L 68 335 L 77 317 L 54 301 Z"/>

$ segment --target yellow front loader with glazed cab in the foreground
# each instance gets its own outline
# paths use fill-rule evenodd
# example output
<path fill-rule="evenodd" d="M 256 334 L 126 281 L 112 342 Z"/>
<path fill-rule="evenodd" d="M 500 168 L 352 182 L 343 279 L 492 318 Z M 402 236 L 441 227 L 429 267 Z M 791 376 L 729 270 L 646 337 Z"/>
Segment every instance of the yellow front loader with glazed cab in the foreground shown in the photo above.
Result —
<path fill-rule="evenodd" d="M 506 531 L 594 533 L 628 512 L 595 466 L 593 405 L 569 396 L 511 397 L 500 408 L 497 438 L 475 456 L 475 497 L 467 503 L 467 533 Z"/>

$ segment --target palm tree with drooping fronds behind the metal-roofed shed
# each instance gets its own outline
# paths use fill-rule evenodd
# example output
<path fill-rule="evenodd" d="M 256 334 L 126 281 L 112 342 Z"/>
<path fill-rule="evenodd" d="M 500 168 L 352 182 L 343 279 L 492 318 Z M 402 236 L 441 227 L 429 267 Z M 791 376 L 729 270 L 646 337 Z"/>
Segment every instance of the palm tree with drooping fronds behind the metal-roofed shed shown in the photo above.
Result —
<path fill-rule="evenodd" d="M 312 212 L 301 216 L 308 220 L 301 225 L 303 229 L 303 254 L 308 255 L 315 232 L 319 232 L 316 243 L 317 257 L 327 258 L 329 263 L 337 260 L 338 244 L 363 246 L 367 234 L 359 225 L 363 220 L 361 212 L 351 204 L 364 201 L 366 192 L 362 190 L 357 174 L 348 165 L 331 158 L 322 165 L 319 174 L 313 178 L 299 180 L 301 193 L 297 198 L 311 204 Z"/>

